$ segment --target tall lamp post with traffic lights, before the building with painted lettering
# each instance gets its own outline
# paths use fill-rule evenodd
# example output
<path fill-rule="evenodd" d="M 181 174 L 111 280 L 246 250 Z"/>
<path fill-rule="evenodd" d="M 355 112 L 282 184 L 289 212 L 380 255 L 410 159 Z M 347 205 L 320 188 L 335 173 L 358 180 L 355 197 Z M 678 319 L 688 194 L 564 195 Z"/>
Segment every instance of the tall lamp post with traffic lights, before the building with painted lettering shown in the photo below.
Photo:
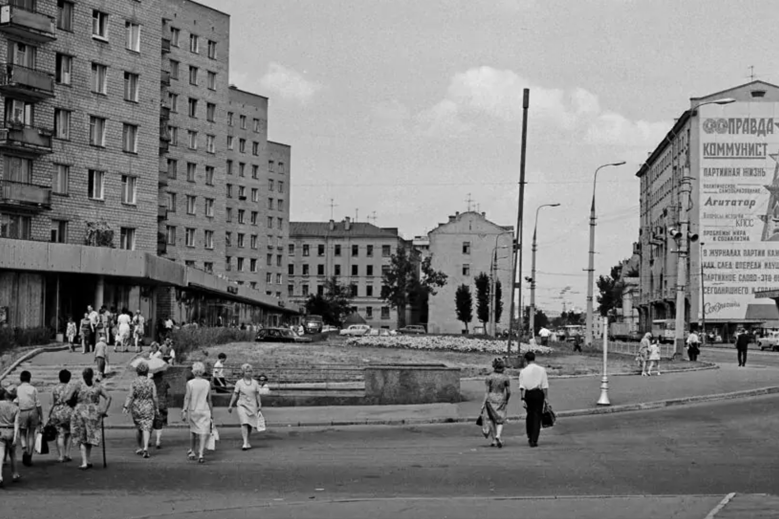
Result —
<path fill-rule="evenodd" d="M 689 117 L 693 119 L 698 114 L 698 109 L 707 104 L 730 104 L 735 103 L 735 99 L 732 97 L 725 97 L 724 99 L 715 99 L 713 101 L 706 101 L 704 103 L 696 104 L 691 110 Z M 690 123 L 692 125 L 692 123 Z M 689 156 L 687 157 L 686 168 L 689 171 Z M 698 239 L 697 234 L 689 232 L 689 212 L 693 209 L 692 206 L 692 185 L 691 181 L 694 177 L 689 175 L 683 175 L 679 179 L 679 230 L 671 229 L 671 234 L 677 240 L 679 240 L 679 249 L 676 258 L 676 324 L 675 324 L 675 345 L 674 356 L 681 355 L 684 351 L 684 328 L 685 328 L 685 310 L 686 310 L 686 282 L 687 282 L 687 256 L 689 254 L 689 244 Z M 685 196 L 686 195 L 686 196 Z M 683 200 L 682 200 L 683 198 Z"/>

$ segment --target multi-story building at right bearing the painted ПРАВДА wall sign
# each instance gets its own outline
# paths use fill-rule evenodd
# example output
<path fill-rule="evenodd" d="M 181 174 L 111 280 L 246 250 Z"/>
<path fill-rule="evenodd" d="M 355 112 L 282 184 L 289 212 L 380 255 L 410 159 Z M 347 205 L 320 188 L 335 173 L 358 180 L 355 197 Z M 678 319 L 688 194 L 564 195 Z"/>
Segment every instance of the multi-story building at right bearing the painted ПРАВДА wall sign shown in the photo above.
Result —
<path fill-rule="evenodd" d="M 755 301 L 779 283 L 777 123 L 779 86 L 767 82 L 693 98 L 636 173 L 641 331 L 675 318 L 677 286 L 686 325 L 705 317 L 724 339 L 779 319 L 773 304 Z"/>

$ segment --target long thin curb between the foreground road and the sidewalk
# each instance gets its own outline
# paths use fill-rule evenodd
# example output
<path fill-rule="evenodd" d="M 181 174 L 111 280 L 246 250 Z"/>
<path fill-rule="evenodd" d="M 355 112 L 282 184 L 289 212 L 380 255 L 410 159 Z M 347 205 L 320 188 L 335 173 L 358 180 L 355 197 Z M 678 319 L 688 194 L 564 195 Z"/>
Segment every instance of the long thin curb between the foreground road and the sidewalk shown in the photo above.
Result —
<path fill-rule="evenodd" d="M 591 416 L 591 415 L 608 415 L 615 412 L 630 412 L 630 411 L 649 411 L 651 409 L 662 409 L 665 407 L 673 407 L 675 405 L 690 405 L 698 404 L 701 402 L 717 402 L 721 400 L 734 400 L 738 398 L 749 398 L 762 395 L 775 395 L 779 393 L 779 386 L 760 387 L 759 389 L 748 389 L 744 391 L 732 391 L 730 393 L 717 393 L 715 395 L 700 395 L 686 398 L 672 398 L 669 400 L 661 400 L 657 402 L 643 402 L 640 404 L 625 404 L 625 405 L 611 405 L 608 407 L 597 407 L 593 409 L 573 409 L 569 411 L 558 411 L 556 414 L 558 418 L 569 418 L 571 416 Z M 333 420 L 330 422 L 292 422 L 292 423 L 274 423 L 276 428 L 289 428 L 289 427 L 346 427 L 346 426 L 414 426 L 425 424 L 445 424 L 445 423 L 475 423 L 477 416 L 453 416 L 442 418 L 409 418 L 409 419 L 365 419 L 365 420 Z M 509 416 L 509 421 L 519 421 L 523 419 L 523 415 Z M 238 429 L 240 425 L 238 423 L 221 423 L 217 424 L 220 429 Z M 107 425 L 108 430 L 135 430 L 135 426 L 127 425 Z M 176 423 L 167 426 L 168 429 L 189 429 L 189 425 L 186 423 Z"/>

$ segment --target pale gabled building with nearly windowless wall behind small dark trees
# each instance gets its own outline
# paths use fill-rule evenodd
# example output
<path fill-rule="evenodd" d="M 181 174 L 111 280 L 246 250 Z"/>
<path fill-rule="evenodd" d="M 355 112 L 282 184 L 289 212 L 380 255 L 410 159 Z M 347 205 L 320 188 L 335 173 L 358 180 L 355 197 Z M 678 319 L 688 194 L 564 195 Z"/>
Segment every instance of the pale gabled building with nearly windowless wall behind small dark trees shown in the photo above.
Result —
<path fill-rule="evenodd" d="M 473 330 L 478 325 L 476 311 L 476 284 L 474 278 L 484 272 L 491 275 L 493 284 L 500 282 L 502 312 L 496 321 L 499 330 L 509 324 L 509 286 L 511 286 L 513 226 L 499 226 L 486 218 L 484 212 L 456 212 L 447 223 L 428 233 L 430 265 L 445 273 L 446 286 L 436 289 L 428 303 L 428 331 L 455 333 L 465 331 L 465 324 L 457 320 L 455 293 L 460 285 L 471 287 L 474 300 Z"/>

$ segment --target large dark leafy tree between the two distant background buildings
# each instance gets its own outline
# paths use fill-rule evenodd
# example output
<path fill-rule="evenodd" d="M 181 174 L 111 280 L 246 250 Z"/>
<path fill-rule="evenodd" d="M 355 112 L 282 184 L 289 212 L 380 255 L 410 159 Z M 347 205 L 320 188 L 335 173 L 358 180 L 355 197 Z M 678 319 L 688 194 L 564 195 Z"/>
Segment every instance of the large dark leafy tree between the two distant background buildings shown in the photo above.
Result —
<path fill-rule="evenodd" d="M 400 246 L 390 258 L 390 268 L 382 274 L 382 300 L 397 308 L 398 328 L 406 325 L 406 307 L 423 307 L 429 296 L 435 296 L 435 289 L 446 285 L 446 274 L 433 269 L 431 259 L 428 256 L 421 262 L 420 276 L 415 258 L 409 257 L 406 247 Z"/>

